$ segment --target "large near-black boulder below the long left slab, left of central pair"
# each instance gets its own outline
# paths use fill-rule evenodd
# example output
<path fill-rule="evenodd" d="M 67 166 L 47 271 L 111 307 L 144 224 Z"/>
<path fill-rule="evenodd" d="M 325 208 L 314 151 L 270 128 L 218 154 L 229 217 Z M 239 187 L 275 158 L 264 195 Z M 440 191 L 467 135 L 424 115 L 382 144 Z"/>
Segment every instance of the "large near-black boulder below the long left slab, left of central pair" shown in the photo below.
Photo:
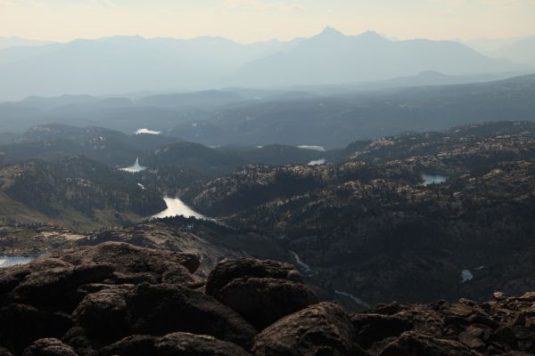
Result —
<path fill-rule="evenodd" d="M 177 285 L 138 285 L 127 295 L 127 307 L 130 326 L 137 334 L 185 331 L 244 346 L 256 334 L 251 324 L 210 295 Z"/>

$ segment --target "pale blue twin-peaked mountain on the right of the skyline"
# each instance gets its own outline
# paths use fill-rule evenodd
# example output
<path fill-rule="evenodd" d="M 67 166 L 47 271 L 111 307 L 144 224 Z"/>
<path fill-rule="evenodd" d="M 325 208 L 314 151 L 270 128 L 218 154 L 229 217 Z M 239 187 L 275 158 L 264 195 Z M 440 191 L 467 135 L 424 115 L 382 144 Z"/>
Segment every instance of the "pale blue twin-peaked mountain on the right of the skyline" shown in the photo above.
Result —
<path fill-rule="evenodd" d="M 333 28 L 291 51 L 247 63 L 233 80 L 241 85 L 319 85 L 411 76 L 425 70 L 468 75 L 523 69 L 487 58 L 450 41 L 391 41 L 374 32 L 344 36 Z"/>

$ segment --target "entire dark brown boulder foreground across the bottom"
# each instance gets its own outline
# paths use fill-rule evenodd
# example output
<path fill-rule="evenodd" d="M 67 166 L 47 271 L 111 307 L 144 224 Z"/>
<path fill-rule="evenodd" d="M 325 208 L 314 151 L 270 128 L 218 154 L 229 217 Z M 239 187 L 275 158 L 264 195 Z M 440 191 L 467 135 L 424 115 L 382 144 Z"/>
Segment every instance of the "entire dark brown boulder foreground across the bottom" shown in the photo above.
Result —
<path fill-rule="evenodd" d="M 531 355 L 535 293 L 475 303 L 320 302 L 291 264 L 108 242 L 0 270 L 0 356 Z"/>

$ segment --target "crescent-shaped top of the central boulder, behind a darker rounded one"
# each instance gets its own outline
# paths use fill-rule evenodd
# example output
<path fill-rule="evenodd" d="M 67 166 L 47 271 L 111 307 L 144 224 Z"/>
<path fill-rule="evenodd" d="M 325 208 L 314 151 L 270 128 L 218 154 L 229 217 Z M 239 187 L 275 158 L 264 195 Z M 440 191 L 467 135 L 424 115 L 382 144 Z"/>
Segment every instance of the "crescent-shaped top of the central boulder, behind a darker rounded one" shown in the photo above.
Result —
<path fill-rule="evenodd" d="M 299 271 L 290 263 L 255 258 L 225 259 L 210 272 L 206 281 L 206 294 L 218 298 L 219 292 L 234 279 L 244 277 L 287 279 L 303 282 Z"/>

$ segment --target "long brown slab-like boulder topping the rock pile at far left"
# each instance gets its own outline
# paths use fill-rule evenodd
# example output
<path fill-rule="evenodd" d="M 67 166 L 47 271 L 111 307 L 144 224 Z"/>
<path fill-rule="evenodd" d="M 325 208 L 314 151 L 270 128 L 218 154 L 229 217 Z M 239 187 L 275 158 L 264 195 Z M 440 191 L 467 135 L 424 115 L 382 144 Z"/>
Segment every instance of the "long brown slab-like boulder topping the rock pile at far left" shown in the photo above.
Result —
<path fill-rule="evenodd" d="M 193 276 L 199 260 L 191 254 L 135 247 L 110 242 L 56 252 L 26 266 L 0 271 L 0 302 L 55 307 L 72 312 L 80 298 L 78 287 L 86 284 L 177 283 L 202 286 Z"/>

